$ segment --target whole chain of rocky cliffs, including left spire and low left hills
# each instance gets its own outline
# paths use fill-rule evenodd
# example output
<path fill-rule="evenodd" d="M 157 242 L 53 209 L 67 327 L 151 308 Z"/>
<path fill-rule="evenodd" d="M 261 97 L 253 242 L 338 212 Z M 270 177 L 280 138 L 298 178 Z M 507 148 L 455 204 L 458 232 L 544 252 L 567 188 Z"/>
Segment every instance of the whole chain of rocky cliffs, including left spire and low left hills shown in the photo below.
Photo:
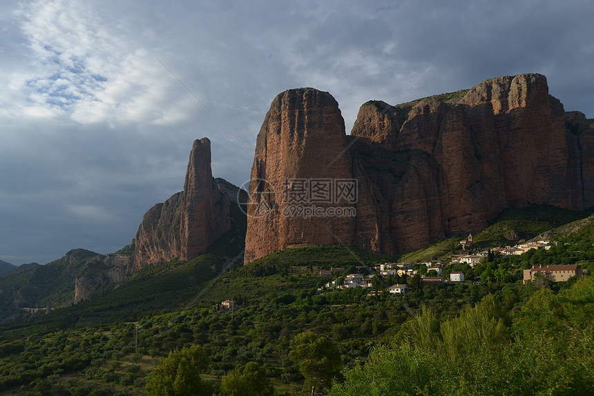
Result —
<path fill-rule="evenodd" d="M 535 152 L 519 156 L 531 141 Z M 497 77 L 396 106 L 367 101 L 351 135 L 345 134 L 338 102 L 328 92 L 287 90 L 271 103 L 256 141 L 251 179 L 268 184 L 250 184 L 248 196 L 213 178 L 210 141 L 196 140 L 184 191 L 146 212 L 131 245 L 112 255 L 86 257 L 84 250 L 71 250 L 55 261 L 70 270 L 60 290 L 7 292 L 8 278 L 0 278 L 2 304 L 10 310 L 44 306 L 48 299 L 55 306 L 77 304 L 144 266 L 209 252 L 241 261 L 246 248 L 245 264 L 285 248 L 320 244 L 345 244 L 376 255 L 410 252 L 449 235 L 486 229 L 506 208 L 592 206 L 593 159 L 591 120 L 565 112 L 548 95 L 542 75 Z M 354 209 L 356 216 L 284 215 L 289 208 L 282 201 L 285 181 L 316 178 L 356 181 L 354 201 L 343 197 L 316 204 Z M 276 196 L 268 194 L 271 188 Z M 250 201 L 254 197 L 259 201 Z M 58 267 L 50 264 L 49 269 Z M 33 277 L 48 271 L 40 270 L 46 266 L 21 266 L 10 276 Z"/>

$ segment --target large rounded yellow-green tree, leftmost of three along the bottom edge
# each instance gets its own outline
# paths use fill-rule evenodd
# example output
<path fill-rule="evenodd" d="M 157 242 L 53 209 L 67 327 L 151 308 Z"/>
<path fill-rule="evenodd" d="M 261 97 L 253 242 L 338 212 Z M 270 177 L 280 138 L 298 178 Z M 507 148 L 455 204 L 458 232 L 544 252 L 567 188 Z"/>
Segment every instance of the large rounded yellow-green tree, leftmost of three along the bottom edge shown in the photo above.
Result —
<path fill-rule="evenodd" d="M 209 362 L 209 357 L 198 345 L 172 350 L 146 377 L 146 393 L 155 396 L 211 395 L 211 384 L 200 377 Z"/>

